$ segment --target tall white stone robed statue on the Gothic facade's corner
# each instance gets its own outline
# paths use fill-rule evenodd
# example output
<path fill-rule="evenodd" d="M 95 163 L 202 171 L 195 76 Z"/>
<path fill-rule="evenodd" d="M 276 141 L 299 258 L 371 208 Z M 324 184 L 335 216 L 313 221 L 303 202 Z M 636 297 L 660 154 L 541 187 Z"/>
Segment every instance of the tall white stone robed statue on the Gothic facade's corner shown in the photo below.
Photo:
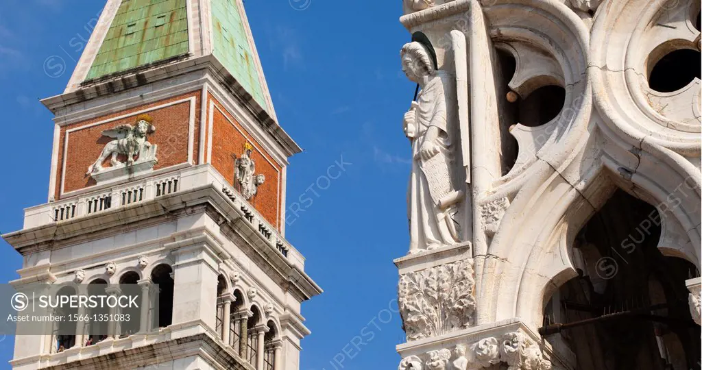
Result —
<path fill-rule="evenodd" d="M 421 87 L 403 122 L 405 136 L 412 143 L 407 194 L 409 253 L 418 253 L 458 242 L 456 203 L 463 191 L 453 185 L 456 173 L 452 173 L 456 172 L 452 161 L 458 128 L 450 127 L 456 122 L 449 118 L 447 107 L 456 87 L 449 74 L 437 69 L 428 39 L 405 44 L 400 55 L 403 72 Z"/>

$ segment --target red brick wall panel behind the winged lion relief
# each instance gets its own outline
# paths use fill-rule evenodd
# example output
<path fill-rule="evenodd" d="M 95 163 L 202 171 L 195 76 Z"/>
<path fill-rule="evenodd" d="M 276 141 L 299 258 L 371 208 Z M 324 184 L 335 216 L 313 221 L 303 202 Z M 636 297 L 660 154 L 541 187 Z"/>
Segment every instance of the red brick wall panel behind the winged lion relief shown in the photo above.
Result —
<path fill-rule="evenodd" d="M 133 107 L 129 110 L 116 112 L 114 114 L 107 114 L 105 116 L 87 121 L 81 121 L 68 126 L 63 126 L 61 128 L 58 151 L 58 186 L 55 193 L 56 199 L 60 199 L 60 186 L 62 173 L 64 171 L 64 192 L 80 190 L 84 187 L 95 185 L 95 180 L 86 176 L 86 171 L 88 170 L 88 166 L 90 166 L 93 161 L 100 156 L 100 152 L 102 152 L 102 148 L 105 147 L 105 144 L 112 140 L 110 138 L 103 137 L 100 134 L 101 131 L 114 128 L 115 126 L 119 126 L 121 124 L 135 124 L 135 118 L 138 115 L 135 112 L 191 97 L 196 98 L 194 105 L 195 127 L 193 159 L 197 163 L 200 137 L 200 95 L 200 91 L 194 91 L 192 93 L 186 93 L 173 98 L 168 98 L 166 100 L 161 100 L 157 103 L 141 105 L 138 107 Z M 147 112 L 147 114 L 154 119 L 152 124 L 156 126 L 156 132 L 150 134 L 148 140 L 152 144 L 159 145 L 156 153 L 159 163 L 154 166 L 154 169 L 163 169 L 168 166 L 186 163 L 187 142 L 189 140 L 190 128 L 190 101 L 152 110 Z M 105 124 L 99 124 L 97 126 L 82 128 L 68 133 L 68 147 L 67 150 L 65 150 L 64 146 L 67 130 L 125 115 L 128 117 L 110 121 Z M 66 156 L 65 169 L 64 155 Z M 105 166 L 110 166 L 109 163 L 110 160 L 107 159 L 107 161 L 105 161 Z"/>

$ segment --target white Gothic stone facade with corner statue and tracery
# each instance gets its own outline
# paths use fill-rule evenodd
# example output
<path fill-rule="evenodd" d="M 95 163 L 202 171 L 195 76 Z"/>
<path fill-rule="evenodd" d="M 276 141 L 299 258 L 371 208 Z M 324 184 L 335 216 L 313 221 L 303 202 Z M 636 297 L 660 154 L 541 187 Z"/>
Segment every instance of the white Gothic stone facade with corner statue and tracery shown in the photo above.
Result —
<path fill-rule="evenodd" d="M 699 2 L 402 9 L 399 369 L 700 369 Z"/>

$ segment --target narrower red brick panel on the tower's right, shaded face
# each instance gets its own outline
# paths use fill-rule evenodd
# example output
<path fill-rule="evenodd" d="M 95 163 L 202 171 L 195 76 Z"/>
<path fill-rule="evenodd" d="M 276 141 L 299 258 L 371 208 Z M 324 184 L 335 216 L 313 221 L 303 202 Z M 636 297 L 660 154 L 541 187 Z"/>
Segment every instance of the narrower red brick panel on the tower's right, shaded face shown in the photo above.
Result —
<path fill-rule="evenodd" d="M 249 199 L 249 203 L 271 225 L 279 229 L 278 215 L 283 191 L 280 184 L 282 166 L 263 150 L 263 147 L 244 130 L 218 100 L 211 95 L 209 98 L 215 104 L 212 122 L 212 166 L 231 185 L 234 185 L 234 156 L 241 157 L 244 153 L 244 144 L 247 142 L 253 145 L 251 157 L 256 162 L 256 173 L 263 173 L 265 183 L 258 187 L 256 196 Z"/>

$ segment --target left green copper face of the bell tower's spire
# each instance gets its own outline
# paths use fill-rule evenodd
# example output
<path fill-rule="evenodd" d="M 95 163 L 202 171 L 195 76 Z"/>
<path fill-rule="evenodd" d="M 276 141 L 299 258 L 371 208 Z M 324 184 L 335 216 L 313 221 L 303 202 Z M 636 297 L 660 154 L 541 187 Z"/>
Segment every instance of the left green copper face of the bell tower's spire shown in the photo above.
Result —
<path fill-rule="evenodd" d="M 86 79 L 188 53 L 185 0 L 123 0 Z"/>

